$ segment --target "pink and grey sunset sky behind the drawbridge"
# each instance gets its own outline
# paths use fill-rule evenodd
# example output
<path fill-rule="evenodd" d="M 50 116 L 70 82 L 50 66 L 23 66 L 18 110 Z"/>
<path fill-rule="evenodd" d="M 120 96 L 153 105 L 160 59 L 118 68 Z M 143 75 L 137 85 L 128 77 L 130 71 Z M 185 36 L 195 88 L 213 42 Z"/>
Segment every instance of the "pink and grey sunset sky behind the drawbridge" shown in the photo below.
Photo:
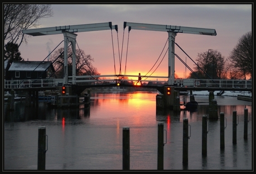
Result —
<path fill-rule="evenodd" d="M 124 22 L 215 29 L 216 36 L 177 34 L 175 42 L 194 61 L 198 53 L 208 49 L 215 49 L 227 58 L 238 39 L 252 31 L 252 4 L 52 4 L 52 9 L 53 17 L 41 19 L 39 28 L 104 22 L 112 22 L 113 26 L 117 24 L 118 33 L 114 28 L 112 33 L 111 29 L 76 33 L 76 48 L 92 56 L 93 67 L 101 74 L 114 74 L 115 54 L 117 73 L 121 59 L 122 74 L 127 62 L 126 74 L 137 75 L 140 72 L 142 76 L 149 76 L 155 71 L 152 76 L 168 76 L 168 53 L 164 57 L 168 48 L 167 44 L 164 49 L 168 33 L 136 29 L 131 29 L 129 33 L 128 27 L 124 30 Z M 63 34 L 30 37 L 28 44 L 22 43 L 19 51 L 25 61 L 43 61 L 61 41 Z M 64 47 L 64 44 L 60 47 Z M 191 69 L 195 67 L 193 61 L 177 46 L 175 53 Z M 190 73 L 177 57 L 175 73 L 179 78 Z"/>

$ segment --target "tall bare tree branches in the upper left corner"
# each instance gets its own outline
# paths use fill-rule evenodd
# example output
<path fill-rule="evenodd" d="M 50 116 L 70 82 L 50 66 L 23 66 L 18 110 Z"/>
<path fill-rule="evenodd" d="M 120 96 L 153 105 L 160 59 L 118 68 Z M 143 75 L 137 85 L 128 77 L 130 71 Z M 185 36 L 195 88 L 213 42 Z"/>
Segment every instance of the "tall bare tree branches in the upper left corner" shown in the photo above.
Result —
<path fill-rule="evenodd" d="M 38 27 L 41 18 L 52 17 L 53 12 L 50 4 L 4 4 L 3 26 L 4 44 L 18 44 L 18 48 L 24 41 L 27 44 L 27 34 L 23 29 Z M 5 58 L 6 59 L 6 58 Z"/>

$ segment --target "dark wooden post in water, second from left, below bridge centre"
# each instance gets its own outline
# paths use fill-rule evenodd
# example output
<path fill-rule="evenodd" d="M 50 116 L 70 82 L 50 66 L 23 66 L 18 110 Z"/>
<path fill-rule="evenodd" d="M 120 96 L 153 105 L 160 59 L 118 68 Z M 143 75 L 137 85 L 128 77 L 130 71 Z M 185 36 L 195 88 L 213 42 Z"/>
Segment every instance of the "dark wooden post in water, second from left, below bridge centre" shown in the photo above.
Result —
<path fill-rule="evenodd" d="M 130 170 L 130 128 L 122 128 L 122 170 Z"/>

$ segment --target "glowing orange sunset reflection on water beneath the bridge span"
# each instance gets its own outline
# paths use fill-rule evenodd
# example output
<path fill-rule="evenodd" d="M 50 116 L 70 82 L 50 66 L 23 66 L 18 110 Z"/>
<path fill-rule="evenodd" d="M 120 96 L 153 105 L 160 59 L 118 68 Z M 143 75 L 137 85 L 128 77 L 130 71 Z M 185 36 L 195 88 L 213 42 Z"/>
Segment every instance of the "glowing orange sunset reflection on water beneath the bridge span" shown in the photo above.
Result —
<path fill-rule="evenodd" d="M 93 93 L 91 96 L 91 100 L 93 100 L 91 110 L 95 109 L 95 112 L 97 112 L 97 115 L 93 116 L 94 118 L 111 118 L 116 117 L 116 113 L 120 113 L 120 118 L 129 117 L 136 125 L 145 125 L 145 121 L 148 119 L 155 119 L 155 112 L 152 113 L 153 117 L 145 114 L 155 108 L 155 96 L 155 93 L 148 92 Z M 97 107 L 99 105 L 105 111 L 99 110 Z M 102 112 L 104 112 L 103 115 Z"/>

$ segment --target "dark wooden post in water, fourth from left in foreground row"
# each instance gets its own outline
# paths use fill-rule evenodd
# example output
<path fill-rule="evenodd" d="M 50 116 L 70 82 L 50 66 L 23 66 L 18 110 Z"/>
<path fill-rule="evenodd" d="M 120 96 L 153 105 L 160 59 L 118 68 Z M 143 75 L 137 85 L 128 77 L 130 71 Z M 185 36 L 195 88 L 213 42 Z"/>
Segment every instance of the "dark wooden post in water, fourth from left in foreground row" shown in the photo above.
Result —
<path fill-rule="evenodd" d="M 183 163 L 188 163 L 189 125 L 188 118 L 183 118 Z"/>

